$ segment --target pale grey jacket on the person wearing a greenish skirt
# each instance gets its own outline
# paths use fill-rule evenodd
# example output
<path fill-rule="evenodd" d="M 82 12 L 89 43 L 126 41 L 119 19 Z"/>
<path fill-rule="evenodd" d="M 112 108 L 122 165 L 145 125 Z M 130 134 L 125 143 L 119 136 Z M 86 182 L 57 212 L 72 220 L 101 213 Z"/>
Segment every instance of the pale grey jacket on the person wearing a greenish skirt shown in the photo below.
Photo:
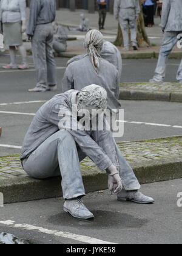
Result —
<path fill-rule="evenodd" d="M 0 21 L 2 23 L 16 23 L 26 20 L 25 0 L 1 0 Z"/>

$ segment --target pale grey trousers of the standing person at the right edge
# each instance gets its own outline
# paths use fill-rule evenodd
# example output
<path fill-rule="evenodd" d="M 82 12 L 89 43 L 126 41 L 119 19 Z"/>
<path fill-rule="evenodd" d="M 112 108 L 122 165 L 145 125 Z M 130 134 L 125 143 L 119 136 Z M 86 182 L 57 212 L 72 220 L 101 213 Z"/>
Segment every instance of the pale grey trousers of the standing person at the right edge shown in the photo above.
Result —
<path fill-rule="evenodd" d="M 175 44 L 178 42 L 178 34 L 182 34 L 181 32 L 165 32 L 163 38 L 163 44 L 161 46 L 160 55 L 158 58 L 157 68 L 155 69 L 155 78 L 158 80 L 163 80 L 166 76 L 166 64 L 169 57 L 170 52 L 174 48 Z M 180 67 L 177 72 L 177 80 L 182 80 L 182 60 Z"/>

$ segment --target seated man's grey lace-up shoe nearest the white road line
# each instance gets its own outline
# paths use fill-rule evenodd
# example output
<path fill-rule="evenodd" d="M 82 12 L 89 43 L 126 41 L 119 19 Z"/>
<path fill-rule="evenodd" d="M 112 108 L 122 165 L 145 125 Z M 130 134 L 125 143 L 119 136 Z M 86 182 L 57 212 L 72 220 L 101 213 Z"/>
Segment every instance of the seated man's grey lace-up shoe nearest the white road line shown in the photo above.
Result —
<path fill-rule="evenodd" d="M 64 212 L 70 213 L 75 218 L 79 219 L 92 219 L 93 214 L 83 204 L 83 200 L 80 198 L 73 200 L 66 200 L 64 203 Z"/>

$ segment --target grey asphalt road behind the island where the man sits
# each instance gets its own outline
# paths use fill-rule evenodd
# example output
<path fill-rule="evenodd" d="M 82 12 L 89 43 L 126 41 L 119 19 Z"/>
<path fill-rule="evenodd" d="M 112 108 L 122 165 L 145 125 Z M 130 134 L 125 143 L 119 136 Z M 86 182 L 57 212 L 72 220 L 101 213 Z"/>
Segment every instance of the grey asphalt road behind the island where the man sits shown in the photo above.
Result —
<path fill-rule="evenodd" d="M 18 57 L 19 62 L 19 57 Z M 58 91 L 61 93 L 61 80 L 65 71 L 67 59 L 56 59 L 58 66 Z M 124 60 L 123 82 L 145 82 L 152 77 L 157 60 Z M 0 56 L 0 66 L 8 63 L 8 56 Z M 0 126 L 3 133 L 0 144 L 21 147 L 25 133 L 32 121 L 33 115 L 55 93 L 29 93 L 27 90 L 36 84 L 35 69 L 32 57 L 29 57 L 30 70 L 4 71 L 0 68 Z M 166 80 L 174 81 L 179 60 L 169 60 Z M 36 102 L 30 102 L 36 101 Z M 41 101 L 41 102 L 37 102 Z M 13 102 L 28 102 L 12 104 Z M 7 105 L 4 105 L 7 104 Z M 143 122 L 152 124 L 124 124 L 124 136 L 117 141 L 146 140 L 150 138 L 170 137 L 181 135 L 181 128 L 165 127 L 182 126 L 181 103 L 155 101 L 122 101 L 124 119 L 129 122 Z M 3 112 L 3 113 L 2 113 Z M 5 112 L 5 113 L 4 113 Z M 10 113 L 9 113 L 10 112 Z M 13 112 L 13 113 L 12 113 Z M 21 114 L 15 114 L 24 113 Z M 30 115 L 29 115 L 30 114 Z M 0 146 L 0 155 L 19 153 L 20 148 Z"/>

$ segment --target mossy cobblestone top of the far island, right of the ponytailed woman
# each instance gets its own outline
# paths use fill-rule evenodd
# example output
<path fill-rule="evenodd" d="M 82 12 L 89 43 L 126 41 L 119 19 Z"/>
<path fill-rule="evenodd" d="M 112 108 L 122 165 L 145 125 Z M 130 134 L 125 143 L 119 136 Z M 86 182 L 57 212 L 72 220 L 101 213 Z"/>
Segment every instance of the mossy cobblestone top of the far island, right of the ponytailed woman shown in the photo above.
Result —
<path fill-rule="evenodd" d="M 139 91 L 164 91 L 182 93 L 182 84 L 179 83 L 123 83 L 121 88 Z"/>

